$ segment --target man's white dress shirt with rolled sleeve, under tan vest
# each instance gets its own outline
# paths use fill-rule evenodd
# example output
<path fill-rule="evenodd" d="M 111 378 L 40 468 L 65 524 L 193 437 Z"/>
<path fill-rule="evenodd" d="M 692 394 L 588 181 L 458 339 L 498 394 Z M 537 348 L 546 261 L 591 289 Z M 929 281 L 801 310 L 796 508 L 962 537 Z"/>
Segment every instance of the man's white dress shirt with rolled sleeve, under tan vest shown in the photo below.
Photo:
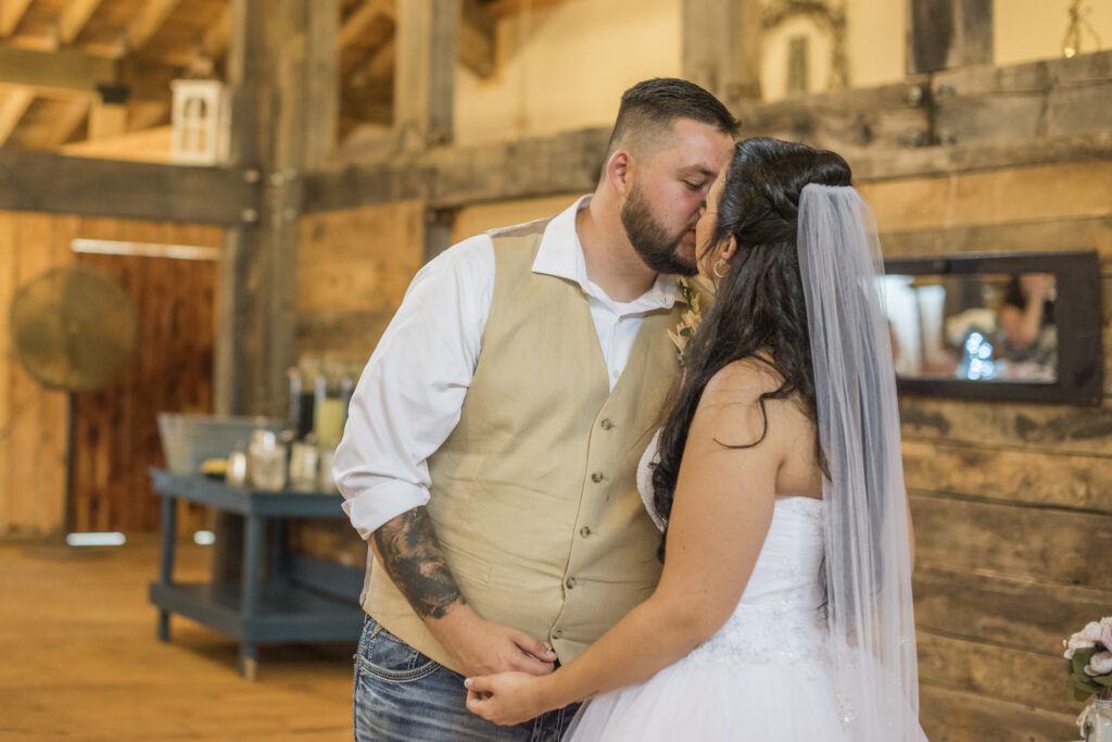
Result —
<path fill-rule="evenodd" d="M 661 275 L 648 291 L 620 303 L 587 277 L 575 216 L 589 200 L 584 196 L 552 219 L 533 273 L 582 287 L 613 389 L 645 314 L 671 308 L 678 290 L 674 277 Z M 365 540 L 387 521 L 428 503 L 426 459 L 459 422 L 481 350 L 494 275 L 494 247 L 485 234 L 429 261 L 363 372 L 332 467 L 344 511 Z"/>

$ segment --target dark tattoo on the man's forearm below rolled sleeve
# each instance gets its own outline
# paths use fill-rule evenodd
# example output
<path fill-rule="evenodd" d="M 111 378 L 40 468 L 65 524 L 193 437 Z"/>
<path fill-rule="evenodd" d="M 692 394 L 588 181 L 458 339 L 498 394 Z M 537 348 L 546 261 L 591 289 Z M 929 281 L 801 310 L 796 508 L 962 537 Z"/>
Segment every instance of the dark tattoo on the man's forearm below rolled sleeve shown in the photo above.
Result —
<path fill-rule="evenodd" d="M 443 619 L 449 605 L 466 603 L 424 507 L 385 523 L 374 538 L 386 573 L 421 619 Z"/>

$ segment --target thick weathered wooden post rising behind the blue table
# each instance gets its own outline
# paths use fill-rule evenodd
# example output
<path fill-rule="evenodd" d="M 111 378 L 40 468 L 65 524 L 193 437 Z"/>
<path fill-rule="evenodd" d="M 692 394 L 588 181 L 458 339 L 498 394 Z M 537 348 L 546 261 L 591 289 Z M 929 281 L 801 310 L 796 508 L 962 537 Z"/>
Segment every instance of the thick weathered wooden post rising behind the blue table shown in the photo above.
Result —
<path fill-rule="evenodd" d="M 231 159 L 259 184 L 262 198 L 226 240 L 218 412 L 285 414 L 285 373 L 295 362 L 305 174 L 310 162 L 327 162 L 335 147 L 339 14 L 339 0 L 235 0 L 232 6 Z"/>

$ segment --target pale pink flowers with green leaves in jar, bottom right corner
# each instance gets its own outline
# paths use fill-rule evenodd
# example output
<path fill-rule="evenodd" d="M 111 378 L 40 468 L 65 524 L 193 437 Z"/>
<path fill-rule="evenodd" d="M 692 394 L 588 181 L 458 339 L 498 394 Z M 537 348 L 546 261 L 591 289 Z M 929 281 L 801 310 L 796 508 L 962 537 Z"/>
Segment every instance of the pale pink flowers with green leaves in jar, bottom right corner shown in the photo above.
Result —
<path fill-rule="evenodd" d="M 1066 685 L 1078 701 L 1093 701 L 1078 718 L 1083 740 L 1112 742 L 1112 616 L 1093 621 L 1062 642 L 1070 661 Z"/>

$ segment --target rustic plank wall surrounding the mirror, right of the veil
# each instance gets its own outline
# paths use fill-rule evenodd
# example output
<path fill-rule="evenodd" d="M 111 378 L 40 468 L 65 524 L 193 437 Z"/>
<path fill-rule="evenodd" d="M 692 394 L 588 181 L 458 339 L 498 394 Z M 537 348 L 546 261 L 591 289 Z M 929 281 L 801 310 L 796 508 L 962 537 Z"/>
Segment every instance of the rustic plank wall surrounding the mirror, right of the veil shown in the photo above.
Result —
<path fill-rule="evenodd" d="M 1101 406 L 901 399 L 929 738 L 1071 739 L 1061 642 L 1112 606 L 1112 160 L 861 190 L 886 257 L 1100 254 Z"/>

